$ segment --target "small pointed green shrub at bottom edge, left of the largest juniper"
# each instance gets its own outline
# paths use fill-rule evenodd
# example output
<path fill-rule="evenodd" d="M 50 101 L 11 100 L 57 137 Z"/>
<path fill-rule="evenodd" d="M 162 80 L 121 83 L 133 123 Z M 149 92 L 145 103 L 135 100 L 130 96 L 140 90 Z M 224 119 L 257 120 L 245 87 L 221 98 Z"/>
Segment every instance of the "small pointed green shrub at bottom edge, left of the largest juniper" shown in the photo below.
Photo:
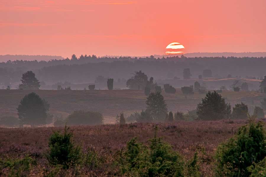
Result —
<path fill-rule="evenodd" d="M 201 173 L 199 171 L 200 166 L 198 164 L 198 153 L 194 153 L 191 160 L 186 163 L 185 176 L 186 177 L 200 177 Z"/>

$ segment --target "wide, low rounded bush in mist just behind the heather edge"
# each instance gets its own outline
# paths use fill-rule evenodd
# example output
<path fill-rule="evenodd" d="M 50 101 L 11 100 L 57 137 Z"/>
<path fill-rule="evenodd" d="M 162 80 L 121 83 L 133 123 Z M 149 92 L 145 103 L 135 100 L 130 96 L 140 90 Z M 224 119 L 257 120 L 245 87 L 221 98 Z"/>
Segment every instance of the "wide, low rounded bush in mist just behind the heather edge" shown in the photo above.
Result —
<path fill-rule="evenodd" d="M 66 120 L 69 125 L 100 125 L 103 124 L 103 115 L 100 112 L 74 111 Z"/>

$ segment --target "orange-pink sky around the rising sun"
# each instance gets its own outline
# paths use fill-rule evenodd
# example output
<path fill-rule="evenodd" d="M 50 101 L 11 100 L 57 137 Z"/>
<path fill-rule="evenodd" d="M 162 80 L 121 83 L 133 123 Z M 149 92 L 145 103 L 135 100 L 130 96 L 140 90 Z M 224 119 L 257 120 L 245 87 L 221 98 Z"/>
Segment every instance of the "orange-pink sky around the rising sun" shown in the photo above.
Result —
<path fill-rule="evenodd" d="M 265 0 L 1 0 L 0 55 L 265 52 Z"/>

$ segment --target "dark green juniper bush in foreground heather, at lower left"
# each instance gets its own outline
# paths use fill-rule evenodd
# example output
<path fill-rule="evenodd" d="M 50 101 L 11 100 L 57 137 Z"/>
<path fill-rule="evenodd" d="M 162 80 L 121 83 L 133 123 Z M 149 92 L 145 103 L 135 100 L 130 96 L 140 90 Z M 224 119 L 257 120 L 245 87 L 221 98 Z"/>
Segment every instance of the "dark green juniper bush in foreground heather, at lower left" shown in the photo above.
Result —
<path fill-rule="evenodd" d="M 65 126 L 64 134 L 54 132 L 51 135 L 47 159 L 52 165 L 63 165 L 63 168 L 67 169 L 80 162 L 81 149 L 79 146 L 74 146 L 72 136 L 67 126 Z"/>

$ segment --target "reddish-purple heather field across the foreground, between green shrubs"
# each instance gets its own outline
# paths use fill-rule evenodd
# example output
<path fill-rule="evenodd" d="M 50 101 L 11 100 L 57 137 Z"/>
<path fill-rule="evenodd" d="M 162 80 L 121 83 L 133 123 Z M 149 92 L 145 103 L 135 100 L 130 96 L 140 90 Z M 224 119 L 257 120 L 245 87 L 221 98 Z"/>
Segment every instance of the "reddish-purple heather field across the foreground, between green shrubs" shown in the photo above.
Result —
<path fill-rule="evenodd" d="M 181 153 L 184 159 L 192 158 L 199 151 L 202 176 L 214 176 L 214 154 L 217 145 L 236 134 L 238 127 L 246 120 L 234 121 L 194 121 L 158 124 L 158 136 L 169 142 L 173 149 Z M 85 151 L 93 147 L 103 159 L 97 168 L 92 168 L 88 176 L 112 176 L 118 167 L 114 165 L 117 152 L 133 137 L 148 144 L 154 136 L 154 124 L 126 124 L 70 127 L 74 133 L 74 143 Z M 31 169 L 31 176 L 43 176 L 44 169 L 50 166 L 46 160 L 48 138 L 54 131 L 63 131 L 63 127 L 38 128 L 0 128 L 0 159 L 21 158 L 30 155 L 37 160 L 37 166 Z M 85 172 L 84 172 L 85 173 Z M 82 173 L 83 174 L 83 173 Z M 72 176 L 69 172 L 69 176 Z"/>

